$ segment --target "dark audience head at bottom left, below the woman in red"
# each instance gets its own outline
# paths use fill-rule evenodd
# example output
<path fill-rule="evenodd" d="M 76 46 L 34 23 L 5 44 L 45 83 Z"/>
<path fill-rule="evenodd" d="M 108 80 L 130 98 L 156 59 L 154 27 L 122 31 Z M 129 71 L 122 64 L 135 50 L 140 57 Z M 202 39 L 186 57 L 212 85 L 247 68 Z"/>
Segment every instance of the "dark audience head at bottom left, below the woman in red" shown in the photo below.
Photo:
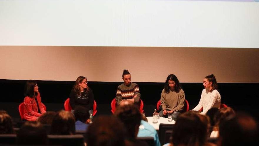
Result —
<path fill-rule="evenodd" d="M 27 121 L 17 134 L 19 145 L 47 145 L 47 132 L 39 122 Z"/>

